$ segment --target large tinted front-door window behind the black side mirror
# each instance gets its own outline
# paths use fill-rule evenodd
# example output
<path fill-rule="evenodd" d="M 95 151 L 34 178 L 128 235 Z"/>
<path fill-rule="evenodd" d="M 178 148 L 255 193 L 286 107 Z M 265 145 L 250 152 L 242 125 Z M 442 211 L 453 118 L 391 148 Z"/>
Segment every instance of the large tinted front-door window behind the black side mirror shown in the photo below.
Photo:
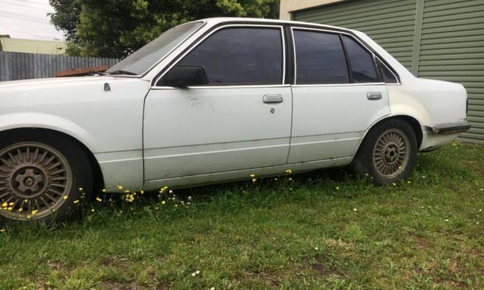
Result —
<path fill-rule="evenodd" d="M 281 84 L 282 54 L 279 28 L 227 28 L 176 65 L 203 67 L 209 86 Z"/>

